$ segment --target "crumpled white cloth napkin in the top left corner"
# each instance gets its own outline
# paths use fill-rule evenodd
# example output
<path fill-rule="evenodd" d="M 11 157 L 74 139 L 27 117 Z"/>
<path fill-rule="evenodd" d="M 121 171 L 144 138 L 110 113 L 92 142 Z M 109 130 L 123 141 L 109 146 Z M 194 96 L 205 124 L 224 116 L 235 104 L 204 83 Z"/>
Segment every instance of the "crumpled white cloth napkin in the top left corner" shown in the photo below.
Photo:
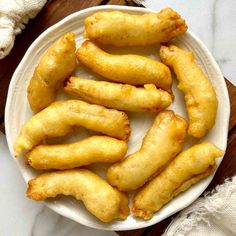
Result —
<path fill-rule="evenodd" d="M 8 55 L 15 36 L 34 18 L 47 0 L 0 0 L 0 59 Z"/>

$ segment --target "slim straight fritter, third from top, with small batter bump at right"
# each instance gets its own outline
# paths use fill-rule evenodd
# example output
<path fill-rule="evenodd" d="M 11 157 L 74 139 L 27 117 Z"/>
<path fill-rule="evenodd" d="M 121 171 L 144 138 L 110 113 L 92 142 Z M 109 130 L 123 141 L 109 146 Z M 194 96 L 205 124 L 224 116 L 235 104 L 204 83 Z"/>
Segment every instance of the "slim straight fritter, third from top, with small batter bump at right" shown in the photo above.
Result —
<path fill-rule="evenodd" d="M 87 102 L 123 111 L 157 112 L 172 102 L 171 95 L 154 84 L 136 88 L 128 84 L 71 77 L 65 90 Z"/>

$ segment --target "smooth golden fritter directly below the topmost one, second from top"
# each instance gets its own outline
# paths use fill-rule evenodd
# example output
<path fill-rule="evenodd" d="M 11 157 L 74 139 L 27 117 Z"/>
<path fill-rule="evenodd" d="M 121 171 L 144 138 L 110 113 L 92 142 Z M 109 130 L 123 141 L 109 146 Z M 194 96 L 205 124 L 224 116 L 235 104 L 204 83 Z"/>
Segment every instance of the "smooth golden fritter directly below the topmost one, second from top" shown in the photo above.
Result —
<path fill-rule="evenodd" d="M 92 71 L 107 79 L 132 85 L 155 84 L 171 91 L 169 68 L 148 57 L 111 55 L 91 41 L 85 41 L 76 51 L 77 59 Z"/>

